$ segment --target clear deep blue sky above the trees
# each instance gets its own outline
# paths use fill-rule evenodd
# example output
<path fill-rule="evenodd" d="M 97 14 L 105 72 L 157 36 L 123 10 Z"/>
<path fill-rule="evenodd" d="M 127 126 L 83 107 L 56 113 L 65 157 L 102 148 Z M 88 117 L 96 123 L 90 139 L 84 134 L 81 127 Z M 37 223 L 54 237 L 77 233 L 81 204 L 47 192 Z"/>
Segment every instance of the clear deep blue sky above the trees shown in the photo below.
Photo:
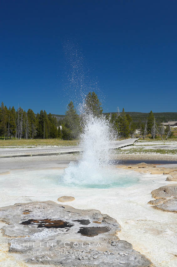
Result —
<path fill-rule="evenodd" d="M 177 112 L 176 14 L 175 0 L 1 0 L 0 101 L 64 114 L 69 38 L 99 81 L 105 112 Z"/>

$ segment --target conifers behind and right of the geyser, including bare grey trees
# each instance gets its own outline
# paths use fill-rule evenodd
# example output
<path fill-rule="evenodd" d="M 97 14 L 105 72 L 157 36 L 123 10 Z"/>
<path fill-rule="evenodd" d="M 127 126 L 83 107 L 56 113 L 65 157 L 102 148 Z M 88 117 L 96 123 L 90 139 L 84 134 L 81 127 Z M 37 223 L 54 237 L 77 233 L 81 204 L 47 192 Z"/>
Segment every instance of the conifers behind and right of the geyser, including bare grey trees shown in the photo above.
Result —
<path fill-rule="evenodd" d="M 110 121 L 117 138 L 140 137 L 145 139 L 151 137 L 155 139 L 159 136 L 163 140 L 164 135 L 166 139 L 173 137 L 170 126 L 164 128 L 161 119 L 157 120 L 152 111 L 148 113 L 145 121 L 137 124 L 129 115 L 130 112 L 126 113 L 124 108 L 122 112 L 102 113 L 101 105 L 95 92 L 89 92 L 85 99 L 86 110 L 92 112 L 94 116 L 105 116 Z M 77 114 L 72 101 L 65 114 L 62 125 L 63 139 L 76 139 L 82 130 L 82 117 Z"/>

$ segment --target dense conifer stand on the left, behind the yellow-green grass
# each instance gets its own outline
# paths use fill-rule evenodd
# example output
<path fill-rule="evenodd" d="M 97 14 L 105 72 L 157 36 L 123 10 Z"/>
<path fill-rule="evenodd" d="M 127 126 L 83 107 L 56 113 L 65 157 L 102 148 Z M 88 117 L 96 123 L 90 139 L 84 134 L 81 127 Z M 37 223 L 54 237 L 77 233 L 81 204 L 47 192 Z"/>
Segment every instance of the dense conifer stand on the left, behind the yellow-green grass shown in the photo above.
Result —
<path fill-rule="evenodd" d="M 4 139 L 61 138 L 60 121 L 51 113 L 41 110 L 37 115 L 32 109 L 0 106 L 0 137 Z"/>

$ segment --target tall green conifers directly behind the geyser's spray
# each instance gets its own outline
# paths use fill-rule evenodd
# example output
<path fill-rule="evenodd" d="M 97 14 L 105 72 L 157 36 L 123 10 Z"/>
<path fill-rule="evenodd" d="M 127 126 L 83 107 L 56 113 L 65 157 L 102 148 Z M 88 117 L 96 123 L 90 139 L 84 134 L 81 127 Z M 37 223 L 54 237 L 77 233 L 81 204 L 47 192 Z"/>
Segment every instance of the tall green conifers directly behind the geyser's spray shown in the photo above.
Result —
<path fill-rule="evenodd" d="M 133 136 L 135 132 L 135 123 L 132 117 L 125 113 L 124 109 L 122 113 L 104 114 L 102 103 L 99 101 L 95 92 L 89 92 L 86 95 L 84 112 L 91 113 L 95 117 L 105 116 L 110 121 L 117 138 L 128 138 L 129 136 Z M 73 102 L 70 101 L 65 115 L 62 124 L 62 137 L 67 140 L 77 139 L 83 128 L 82 114 L 77 114 Z"/>

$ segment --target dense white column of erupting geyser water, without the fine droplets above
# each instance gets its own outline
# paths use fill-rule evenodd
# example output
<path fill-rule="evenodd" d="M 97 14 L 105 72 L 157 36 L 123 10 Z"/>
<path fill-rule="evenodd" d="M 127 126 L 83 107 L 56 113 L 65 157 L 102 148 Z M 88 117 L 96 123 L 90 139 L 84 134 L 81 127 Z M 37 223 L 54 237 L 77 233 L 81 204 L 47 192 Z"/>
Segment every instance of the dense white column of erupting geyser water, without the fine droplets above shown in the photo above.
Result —
<path fill-rule="evenodd" d="M 110 176 L 111 141 L 114 134 L 108 119 L 102 114 L 86 111 L 82 115 L 81 160 L 71 162 L 65 169 L 64 179 L 69 184 L 105 184 Z"/>

